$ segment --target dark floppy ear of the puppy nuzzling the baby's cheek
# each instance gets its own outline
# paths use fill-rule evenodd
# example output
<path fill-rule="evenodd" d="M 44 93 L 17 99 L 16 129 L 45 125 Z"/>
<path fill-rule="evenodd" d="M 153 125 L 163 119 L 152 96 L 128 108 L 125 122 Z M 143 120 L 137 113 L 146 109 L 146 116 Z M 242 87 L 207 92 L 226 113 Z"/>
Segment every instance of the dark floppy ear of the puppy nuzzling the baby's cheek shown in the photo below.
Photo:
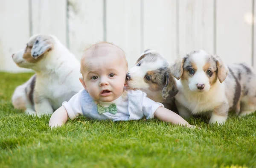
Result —
<path fill-rule="evenodd" d="M 166 72 L 165 81 L 166 81 L 166 84 L 162 90 L 162 97 L 164 99 L 173 98 L 179 91 L 176 85 L 175 78 L 172 76 L 171 73 Z"/>

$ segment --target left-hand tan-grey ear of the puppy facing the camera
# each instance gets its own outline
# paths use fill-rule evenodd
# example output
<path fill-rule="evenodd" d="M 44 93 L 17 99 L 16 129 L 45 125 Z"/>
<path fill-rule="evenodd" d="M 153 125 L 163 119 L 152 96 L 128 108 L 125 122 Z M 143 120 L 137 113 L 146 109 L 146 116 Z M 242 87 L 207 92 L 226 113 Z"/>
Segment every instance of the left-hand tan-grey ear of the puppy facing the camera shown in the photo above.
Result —
<path fill-rule="evenodd" d="M 186 57 L 177 58 L 175 60 L 175 63 L 170 66 L 172 75 L 178 80 L 181 78 L 181 76 L 183 74 L 183 64 L 184 64 L 185 59 L 186 59 Z"/>

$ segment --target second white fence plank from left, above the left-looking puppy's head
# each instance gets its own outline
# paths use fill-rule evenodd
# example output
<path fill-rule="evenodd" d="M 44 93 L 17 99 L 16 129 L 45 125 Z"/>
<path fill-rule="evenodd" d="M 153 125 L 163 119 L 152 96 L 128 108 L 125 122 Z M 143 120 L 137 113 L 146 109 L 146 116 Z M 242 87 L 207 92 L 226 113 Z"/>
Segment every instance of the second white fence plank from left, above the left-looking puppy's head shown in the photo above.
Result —
<path fill-rule="evenodd" d="M 66 0 L 32 0 L 32 34 L 55 35 L 67 45 Z"/>

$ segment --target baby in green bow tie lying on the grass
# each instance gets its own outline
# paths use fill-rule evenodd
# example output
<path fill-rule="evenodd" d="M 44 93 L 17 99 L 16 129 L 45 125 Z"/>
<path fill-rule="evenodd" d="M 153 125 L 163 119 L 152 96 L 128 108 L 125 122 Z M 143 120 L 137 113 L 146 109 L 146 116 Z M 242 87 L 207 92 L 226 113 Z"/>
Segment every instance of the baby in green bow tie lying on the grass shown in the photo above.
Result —
<path fill-rule="evenodd" d="M 125 76 L 128 63 L 124 51 L 116 45 L 99 42 L 87 48 L 81 58 L 79 78 L 84 90 L 63 102 L 49 120 L 49 126 L 61 126 L 68 118 L 83 115 L 92 120 L 139 120 L 158 118 L 162 121 L 189 125 L 175 112 L 146 97 L 140 90 L 128 90 Z"/>

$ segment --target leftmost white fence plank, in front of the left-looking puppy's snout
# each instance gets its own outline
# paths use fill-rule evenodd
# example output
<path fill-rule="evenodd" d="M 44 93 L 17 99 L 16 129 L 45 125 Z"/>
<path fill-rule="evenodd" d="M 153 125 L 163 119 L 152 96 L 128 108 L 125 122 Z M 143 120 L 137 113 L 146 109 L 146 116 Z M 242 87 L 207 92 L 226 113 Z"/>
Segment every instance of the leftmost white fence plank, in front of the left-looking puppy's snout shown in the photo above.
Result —
<path fill-rule="evenodd" d="M 0 0 L 0 23 L 0 71 L 29 71 L 12 60 L 29 39 L 29 0 Z"/>

